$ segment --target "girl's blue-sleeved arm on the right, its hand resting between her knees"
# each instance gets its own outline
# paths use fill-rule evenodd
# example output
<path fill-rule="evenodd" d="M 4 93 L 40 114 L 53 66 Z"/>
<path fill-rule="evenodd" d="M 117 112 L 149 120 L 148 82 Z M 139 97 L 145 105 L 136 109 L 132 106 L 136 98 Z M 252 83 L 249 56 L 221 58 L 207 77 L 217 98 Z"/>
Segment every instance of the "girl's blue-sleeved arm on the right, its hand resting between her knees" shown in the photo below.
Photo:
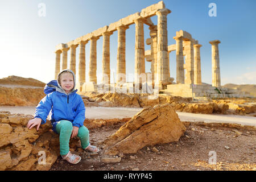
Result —
<path fill-rule="evenodd" d="M 76 117 L 73 120 L 73 126 L 81 127 L 84 125 L 85 106 L 81 96 L 79 96 L 79 105 L 76 107 Z"/>

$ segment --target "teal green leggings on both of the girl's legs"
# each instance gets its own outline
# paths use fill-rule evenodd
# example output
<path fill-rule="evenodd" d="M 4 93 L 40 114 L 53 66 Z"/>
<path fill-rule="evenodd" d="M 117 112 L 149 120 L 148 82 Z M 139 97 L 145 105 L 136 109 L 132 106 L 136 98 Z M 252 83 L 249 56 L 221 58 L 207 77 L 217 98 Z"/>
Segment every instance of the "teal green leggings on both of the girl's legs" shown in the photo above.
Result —
<path fill-rule="evenodd" d="M 56 125 L 56 131 L 60 135 L 60 155 L 66 155 L 69 152 L 69 139 L 73 130 L 72 122 L 61 120 Z M 89 146 L 89 130 L 85 126 L 79 128 L 77 137 L 81 140 L 82 148 Z"/>

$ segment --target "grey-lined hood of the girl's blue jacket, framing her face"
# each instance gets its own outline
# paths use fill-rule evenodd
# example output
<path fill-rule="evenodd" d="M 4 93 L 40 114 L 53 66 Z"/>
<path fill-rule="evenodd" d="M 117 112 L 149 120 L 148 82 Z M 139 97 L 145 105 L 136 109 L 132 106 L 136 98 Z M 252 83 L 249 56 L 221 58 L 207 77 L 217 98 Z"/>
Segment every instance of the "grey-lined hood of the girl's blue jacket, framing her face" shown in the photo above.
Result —
<path fill-rule="evenodd" d="M 73 71 L 71 71 L 71 69 L 64 69 L 63 71 L 61 71 L 58 75 L 57 75 L 57 80 L 52 80 L 50 82 L 48 82 L 48 84 L 46 84 L 46 86 L 44 86 L 44 93 L 45 94 L 49 94 L 49 93 L 52 93 L 54 92 L 55 90 L 60 92 L 60 93 L 64 93 L 67 95 L 67 93 L 65 92 L 65 90 L 60 86 L 60 83 L 59 83 L 59 76 L 61 73 L 63 73 L 64 71 L 68 71 L 68 72 L 71 72 L 72 75 L 73 75 L 73 80 L 74 80 L 74 87 L 73 89 L 71 90 L 71 93 L 73 92 L 77 92 L 77 89 L 76 88 L 76 77 L 75 77 L 75 73 Z"/>

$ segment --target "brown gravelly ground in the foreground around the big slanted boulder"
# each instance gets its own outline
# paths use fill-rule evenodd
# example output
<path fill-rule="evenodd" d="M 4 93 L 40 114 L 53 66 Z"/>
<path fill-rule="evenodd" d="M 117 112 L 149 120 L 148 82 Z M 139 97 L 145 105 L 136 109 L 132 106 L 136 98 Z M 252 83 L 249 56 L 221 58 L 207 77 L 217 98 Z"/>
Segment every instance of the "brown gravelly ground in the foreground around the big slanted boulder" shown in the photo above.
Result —
<path fill-rule="evenodd" d="M 121 126 L 119 123 L 90 130 L 91 143 L 98 146 L 97 143 Z M 59 156 L 51 171 L 256 170 L 255 130 L 200 126 L 196 123 L 187 126 L 178 142 L 146 146 L 136 154 L 124 154 L 118 163 L 102 163 L 104 151 L 90 155 L 77 148 L 75 152 L 82 157 L 80 163 L 69 164 Z"/>

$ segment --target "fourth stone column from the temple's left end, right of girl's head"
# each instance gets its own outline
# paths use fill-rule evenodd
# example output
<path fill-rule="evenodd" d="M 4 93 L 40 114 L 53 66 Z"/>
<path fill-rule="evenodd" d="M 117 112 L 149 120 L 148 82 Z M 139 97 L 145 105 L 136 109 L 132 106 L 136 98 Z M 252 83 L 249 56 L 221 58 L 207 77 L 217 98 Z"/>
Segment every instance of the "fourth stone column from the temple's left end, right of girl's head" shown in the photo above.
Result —
<path fill-rule="evenodd" d="M 82 85 L 85 82 L 85 45 L 86 42 L 79 42 L 80 51 L 79 51 L 79 82 L 77 82 L 77 89 L 81 92 Z"/>

